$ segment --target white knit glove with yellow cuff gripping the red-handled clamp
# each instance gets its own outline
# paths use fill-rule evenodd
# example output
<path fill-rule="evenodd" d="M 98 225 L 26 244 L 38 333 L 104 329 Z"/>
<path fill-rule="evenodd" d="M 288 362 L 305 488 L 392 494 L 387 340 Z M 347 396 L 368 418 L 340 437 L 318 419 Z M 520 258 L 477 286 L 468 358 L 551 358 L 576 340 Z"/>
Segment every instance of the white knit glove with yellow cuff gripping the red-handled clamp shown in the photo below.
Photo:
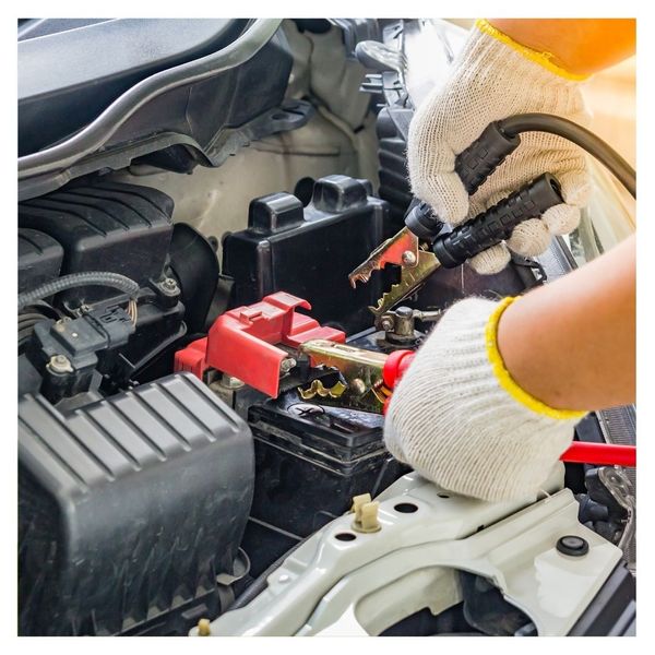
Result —
<path fill-rule="evenodd" d="M 469 298 L 445 312 L 393 391 L 389 451 L 440 487 L 489 501 L 536 493 L 585 415 L 523 391 L 496 346 L 512 301 Z"/>

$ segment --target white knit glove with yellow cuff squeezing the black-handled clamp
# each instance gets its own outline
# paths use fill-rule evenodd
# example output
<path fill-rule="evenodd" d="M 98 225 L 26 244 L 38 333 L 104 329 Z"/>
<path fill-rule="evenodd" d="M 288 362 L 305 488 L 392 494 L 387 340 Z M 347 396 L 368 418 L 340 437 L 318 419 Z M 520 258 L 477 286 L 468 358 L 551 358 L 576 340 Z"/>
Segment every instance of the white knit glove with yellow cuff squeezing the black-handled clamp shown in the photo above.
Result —
<path fill-rule="evenodd" d="M 565 204 L 525 221 L 505 243 L 468 262 L 491 274 L 510 261 L 508 247 L 524 257 L 544 252 L 551 235 L 568 234 L 580 221 L 591 184 L 584 153 L 560 136 L 544 132 L 521 135 L 521 145 L 471 196 L 455 170 L 455 156 L 490 123 L 515 114 L 545 112 L 587 126 L 581 76 L 552 64 L 547 55 L 525 48 L 478 21 L 449 81 L 420 105 L 409 126 L 407 162 L 416 196 L 446 223 L 458 225 L 507 198 L 543 172 L 555 175 Z"/>

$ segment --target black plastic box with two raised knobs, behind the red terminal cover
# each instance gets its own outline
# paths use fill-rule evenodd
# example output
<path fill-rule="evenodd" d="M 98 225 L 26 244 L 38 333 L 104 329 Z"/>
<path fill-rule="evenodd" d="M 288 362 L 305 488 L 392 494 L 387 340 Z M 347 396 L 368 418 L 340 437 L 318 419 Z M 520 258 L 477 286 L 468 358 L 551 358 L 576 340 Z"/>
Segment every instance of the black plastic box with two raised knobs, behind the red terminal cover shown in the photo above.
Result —
<path fill-rule="evenodd" d="M 319 179 L 307 207 L 290 193 L 250 203 L 248 229 L 223 242 L 223 273 L 234 278 L 231 307 L 275 291 L 309 300 L 319 322 L 352 334 L 371 323 L 386 272 L 353 289 L 348 273 L 389 236 L 389 205 L 370 182 L 343 175 Z"/>

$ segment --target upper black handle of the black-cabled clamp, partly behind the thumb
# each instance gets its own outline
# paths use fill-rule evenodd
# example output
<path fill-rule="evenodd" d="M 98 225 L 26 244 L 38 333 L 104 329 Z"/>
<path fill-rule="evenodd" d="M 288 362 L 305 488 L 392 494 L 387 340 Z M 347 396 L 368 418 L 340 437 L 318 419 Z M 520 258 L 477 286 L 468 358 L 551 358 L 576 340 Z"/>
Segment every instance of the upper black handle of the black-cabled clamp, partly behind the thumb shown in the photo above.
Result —
<path fill-rule="evenodd" d="M 455 158 L 455 172 L 467 193 L 473 195 L 520 143 L 521 138 L 517 134 L 508 136 L 498 121 L 489 123 Z M 433 214 L 430 205 L 421 202 L 410 207 L 405 225 L 419 239 L 431 240 L 441 231 L 443 222 Z"/>

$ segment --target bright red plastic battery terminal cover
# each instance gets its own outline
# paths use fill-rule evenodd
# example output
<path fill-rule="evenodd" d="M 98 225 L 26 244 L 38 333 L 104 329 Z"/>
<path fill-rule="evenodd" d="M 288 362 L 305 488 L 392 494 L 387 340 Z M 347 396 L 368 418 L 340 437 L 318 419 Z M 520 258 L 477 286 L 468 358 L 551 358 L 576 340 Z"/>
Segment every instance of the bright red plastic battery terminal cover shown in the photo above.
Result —
<path fill-rule="evenodd" d="M 311 309 L 307 300 L 278 291 L 254 305 L 226 311 L 216 319 L 205 338 L 176 353 L 175 370 L 202 378 L 206 369 L 214 368 L 276 397 L 281 365 L 289 357 L 277 345 L 297 349 L 311 338 L 346 341 L 345 332 L 296 313 L 298 307 Z"/>

